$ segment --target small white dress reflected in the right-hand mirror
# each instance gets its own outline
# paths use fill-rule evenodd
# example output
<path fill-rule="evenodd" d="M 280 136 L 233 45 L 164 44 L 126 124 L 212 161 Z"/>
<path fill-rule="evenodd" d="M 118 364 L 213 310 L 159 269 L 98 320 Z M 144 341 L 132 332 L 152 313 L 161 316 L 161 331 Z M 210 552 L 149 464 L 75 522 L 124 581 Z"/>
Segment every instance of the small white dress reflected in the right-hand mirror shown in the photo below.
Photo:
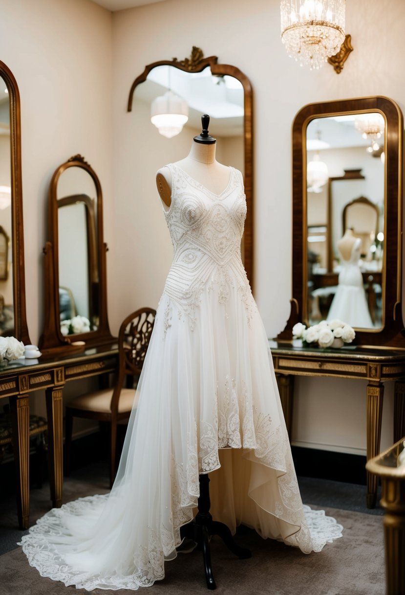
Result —
<path fill-rule="evenodd" d="M 328 312 L 328 320 L 341 320 L 351 327 L 372 328 L 374 324 L 368 309 L 359 267 L 361 243 L 362 240 L 356 237 L 349 260 L 344 260 L 340 253 L 343 268 L 339 273 L 338 286 Z"/>

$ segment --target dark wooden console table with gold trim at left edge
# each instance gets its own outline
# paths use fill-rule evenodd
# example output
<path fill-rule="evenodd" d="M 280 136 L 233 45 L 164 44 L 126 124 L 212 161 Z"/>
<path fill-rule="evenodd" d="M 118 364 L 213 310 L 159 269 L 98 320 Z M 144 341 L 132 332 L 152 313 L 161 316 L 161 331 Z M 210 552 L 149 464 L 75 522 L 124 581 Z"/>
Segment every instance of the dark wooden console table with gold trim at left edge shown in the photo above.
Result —
<path fill-rule="evenodd" d="M 20 528 L 29 527 L 29 395 L 45 389 L 49 436 L 49 481 L 52 505 L 62 505 L 63 406 L 62 390 L 69 380 L 115 372 L 118 346 L 93 347 L 52 361 L 40 358 L 9 362 L 0 367 L 0 399 L 8 397 L 17 477 L 17 509 Z"/>

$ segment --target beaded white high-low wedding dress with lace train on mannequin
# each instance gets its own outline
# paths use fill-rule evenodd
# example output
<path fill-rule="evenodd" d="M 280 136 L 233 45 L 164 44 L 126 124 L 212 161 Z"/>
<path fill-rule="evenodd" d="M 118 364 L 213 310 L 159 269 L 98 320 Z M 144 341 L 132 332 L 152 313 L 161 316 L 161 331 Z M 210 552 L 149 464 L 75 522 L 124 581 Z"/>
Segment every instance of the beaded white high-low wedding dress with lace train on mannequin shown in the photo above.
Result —
<path fill-rule="evenodd" d="M 341 537 L 333 518 L 300 499 L 267 336 L 241 261 L 242 174 L 230 168 L 216 195 L 167 167 L 173 264 L 115 484 L 109 495 L 46 513 L 22 538 L 40 574 L 77 588 L 136 590 L 162 580 L 180 527 L 194 516 L 200 473 L 211 472 L 211 512 L 231 530 L 243 522 L 305 553 Z"/>

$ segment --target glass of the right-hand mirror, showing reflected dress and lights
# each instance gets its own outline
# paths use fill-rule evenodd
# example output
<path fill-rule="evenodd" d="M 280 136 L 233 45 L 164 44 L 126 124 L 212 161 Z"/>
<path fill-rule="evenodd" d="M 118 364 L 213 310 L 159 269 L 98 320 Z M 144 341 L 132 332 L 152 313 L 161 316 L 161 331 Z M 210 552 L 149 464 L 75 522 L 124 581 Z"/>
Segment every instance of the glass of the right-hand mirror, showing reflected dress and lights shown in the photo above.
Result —
<path fill-rule="evenodd" d="M 381 328 L 385 121 L 379 112 L 311 120 L 306 129 L 309 324 Z"/>

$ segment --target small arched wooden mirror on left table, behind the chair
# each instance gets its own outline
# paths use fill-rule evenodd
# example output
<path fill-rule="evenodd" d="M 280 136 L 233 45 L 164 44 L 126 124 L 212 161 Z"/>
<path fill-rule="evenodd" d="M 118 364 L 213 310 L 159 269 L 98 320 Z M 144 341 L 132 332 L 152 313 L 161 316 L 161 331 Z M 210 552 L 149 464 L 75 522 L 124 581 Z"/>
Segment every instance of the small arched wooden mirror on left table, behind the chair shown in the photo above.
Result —
<path fill-rule="evenodd" d="M 81 155 L 53 174 L 49 189 L 43 352 L 110 342 L 100 181 Z"/>

